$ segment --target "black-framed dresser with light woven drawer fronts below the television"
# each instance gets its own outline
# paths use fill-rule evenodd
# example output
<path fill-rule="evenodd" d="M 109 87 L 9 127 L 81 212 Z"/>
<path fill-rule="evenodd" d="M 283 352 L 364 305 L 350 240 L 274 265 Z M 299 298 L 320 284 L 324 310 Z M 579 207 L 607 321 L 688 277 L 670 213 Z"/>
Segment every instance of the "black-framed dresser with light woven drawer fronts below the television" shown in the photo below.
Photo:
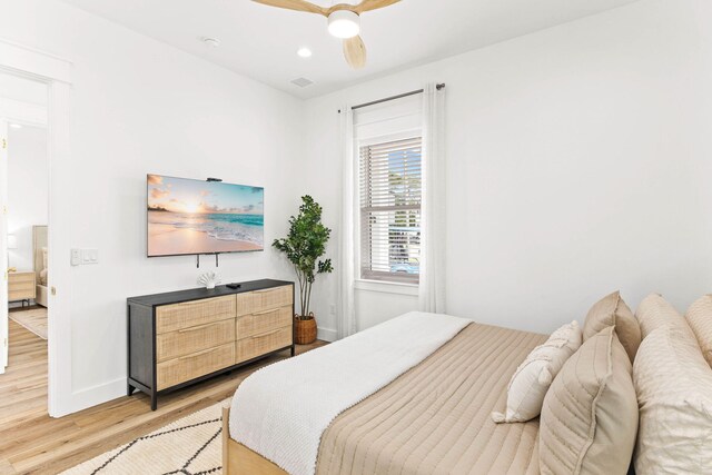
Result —
<path fill-rule="evenodd" d="M 253 280 L 127 299 L 127 394 L 151 397 L 294 346 L 294 283 Z"/>

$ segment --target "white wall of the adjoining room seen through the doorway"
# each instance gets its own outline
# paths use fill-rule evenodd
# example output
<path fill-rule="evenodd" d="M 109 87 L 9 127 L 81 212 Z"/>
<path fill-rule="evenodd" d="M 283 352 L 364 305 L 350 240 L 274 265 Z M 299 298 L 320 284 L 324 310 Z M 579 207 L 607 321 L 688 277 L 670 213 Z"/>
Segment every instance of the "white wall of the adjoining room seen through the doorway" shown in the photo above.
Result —
<path fill-rule="evenodd" d="M 8 132 L 8 230 L 18 240 L 9 251 L 10 266 L 34 269 L 32 226 L 47 225 L 49 187 L 47 129 L 10 128 Z"/>

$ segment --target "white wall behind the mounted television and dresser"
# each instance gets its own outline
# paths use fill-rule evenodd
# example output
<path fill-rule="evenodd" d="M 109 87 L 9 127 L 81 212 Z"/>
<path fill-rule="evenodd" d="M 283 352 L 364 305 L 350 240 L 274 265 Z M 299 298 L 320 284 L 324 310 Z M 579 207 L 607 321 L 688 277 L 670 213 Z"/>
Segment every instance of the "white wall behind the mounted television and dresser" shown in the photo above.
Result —
<path fill-rule="evenodd" d="M 126 392 L 126 298 L 196 287 L 194 257 L 147 259 L 146 174 L 266 188 L 265 241 L 298 206 L 303 102 L 56 0 L 0 0 L 0 36 L 73 63 L 71 160 L 52 164 L 51 232 L 100 264 L 70 295 L 72 409 Z M 62 239 L 62 241 L 65 241 Z M 69 259 L 69 248 L 58 249 Z M 200 271 L 211 268 L 205 259 Z M 220 258 L 224 280 L 291 278 L 270 248 Z"/>

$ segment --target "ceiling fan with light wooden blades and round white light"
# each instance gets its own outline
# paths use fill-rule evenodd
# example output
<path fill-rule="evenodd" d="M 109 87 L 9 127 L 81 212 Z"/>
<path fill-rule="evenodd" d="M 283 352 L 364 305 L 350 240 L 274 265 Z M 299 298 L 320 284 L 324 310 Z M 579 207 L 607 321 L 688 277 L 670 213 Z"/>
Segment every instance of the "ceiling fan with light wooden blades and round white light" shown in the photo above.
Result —
<path fill-rule="evenodd" d="M 334 7 L 319 7 L 306 0 L 253 0 L 257 3 L 287 10 L 323 14 L 328 19 L 329 33 L 344 40 L 346 62 L 354 69 L 366 66 L 366 46 L 358 36 L 360 14 L 397 3 L 400 0 L 363 0 L 358 4 L 338 3 Z"/>

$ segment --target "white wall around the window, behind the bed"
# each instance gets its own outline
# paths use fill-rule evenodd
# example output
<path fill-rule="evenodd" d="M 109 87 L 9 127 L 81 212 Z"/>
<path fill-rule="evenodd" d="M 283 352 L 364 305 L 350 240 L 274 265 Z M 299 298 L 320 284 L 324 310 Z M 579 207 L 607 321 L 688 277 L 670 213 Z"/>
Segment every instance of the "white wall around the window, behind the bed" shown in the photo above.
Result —
<path fill-rule="evenodd" d="M 615 289 L 684 310 L 712 290 L 710 18 L 644 0 L 309 100 L 310 192 L 336 228 L 338 108 L 446 82 L 448 313 L 551 331 Z M 336 277 L 315 288 L 328 333 Z M 417 305 L 356 303 L 359 327 Z"/>

